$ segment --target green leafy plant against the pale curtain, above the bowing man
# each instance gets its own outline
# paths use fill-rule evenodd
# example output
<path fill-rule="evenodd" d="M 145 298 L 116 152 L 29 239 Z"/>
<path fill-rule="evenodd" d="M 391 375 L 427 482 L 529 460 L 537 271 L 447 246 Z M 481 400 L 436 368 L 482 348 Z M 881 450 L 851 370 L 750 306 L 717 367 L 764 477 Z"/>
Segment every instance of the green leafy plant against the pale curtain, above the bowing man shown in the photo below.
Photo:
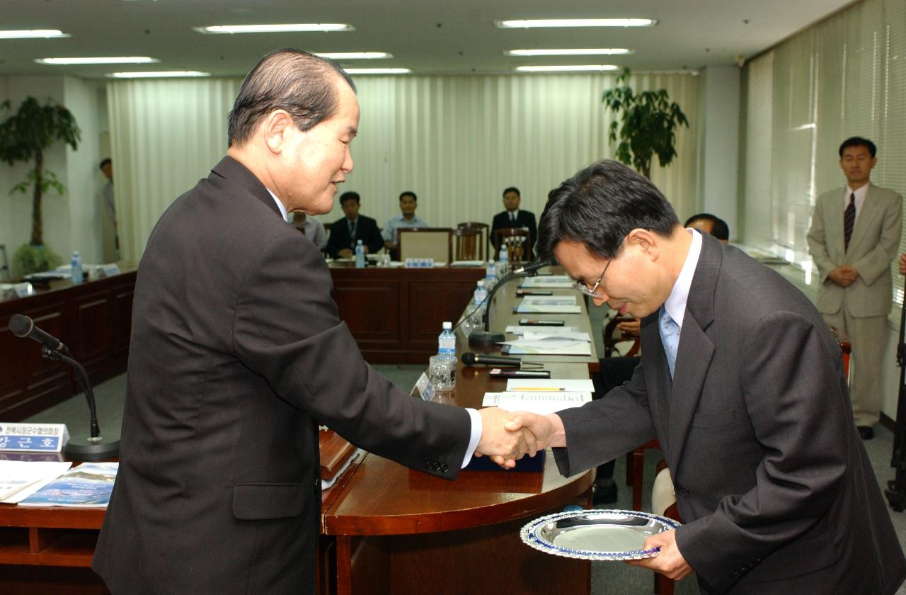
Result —
<path fill-rule="evenodd" d="M 616 158 L 651 178 L 651 159 L 657 153 L 660 165 L 669 165 L 677 155 L 676 129 L 680 125 L 688 128 L 689 121 L 679 105 L 670 102 L 665 89 L 633 93 L 630 75 L 624 68 L 617 86 L 604 92 L 602 102 L 618 116 L 611 122 L 610 134 L 611 142 L 620 138 Z"/>

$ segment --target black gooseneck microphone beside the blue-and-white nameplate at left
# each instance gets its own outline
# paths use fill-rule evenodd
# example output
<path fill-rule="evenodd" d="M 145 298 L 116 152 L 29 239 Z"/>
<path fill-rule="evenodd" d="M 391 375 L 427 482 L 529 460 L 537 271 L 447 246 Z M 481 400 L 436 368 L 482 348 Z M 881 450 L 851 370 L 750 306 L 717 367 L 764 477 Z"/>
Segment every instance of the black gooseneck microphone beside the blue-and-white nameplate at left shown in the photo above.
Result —
<path fill-rule="evenodd" d="M 63 341 L 35 327 L 34 320 L 21 314 L 14 314 L 13 317 L 10 317 L 7 326 L 16 337 L 34 339 L 40 343 L 42 357 L 69 364 L 75 369 L 75 377 L 78 379 L 79 385 L 82 386 L 85 399 L 88 401 L 88 409 L 91 413 L 91 431 L 87 436 L 84 434 L 73 434 L 70 436 L 63 453 L 69 458 L 78 461 L 101 461 L 119 454 L 120 441 L 101 436 L 101 428 L 98 425 L 98 413 L 94 405 L 92 383 L 88 378 L 88 373 L 85 372 L 82 364 L 72 359 L 72 354 L 63 345 Z"/>

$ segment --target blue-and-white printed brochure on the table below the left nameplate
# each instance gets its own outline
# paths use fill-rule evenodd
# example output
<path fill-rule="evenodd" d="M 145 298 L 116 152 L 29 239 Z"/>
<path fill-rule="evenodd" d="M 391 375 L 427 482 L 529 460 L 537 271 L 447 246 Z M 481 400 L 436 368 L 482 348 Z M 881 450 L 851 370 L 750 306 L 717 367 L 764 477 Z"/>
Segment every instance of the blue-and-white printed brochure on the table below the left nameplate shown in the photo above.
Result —
<path fill-rule="evenodd" d="M 107 508 L 120 463 L 82 463 L 19 502 L 19 506 Z"/>

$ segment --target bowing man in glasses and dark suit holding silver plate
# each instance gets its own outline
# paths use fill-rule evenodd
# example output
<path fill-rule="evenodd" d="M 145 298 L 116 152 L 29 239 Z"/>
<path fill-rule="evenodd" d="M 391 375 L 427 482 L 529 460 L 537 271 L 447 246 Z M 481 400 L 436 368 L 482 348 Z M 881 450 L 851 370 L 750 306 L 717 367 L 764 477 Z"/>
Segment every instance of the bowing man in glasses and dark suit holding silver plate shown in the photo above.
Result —
<path fill-rule="evenodd" d="M 840 347 L 805 296 L 683 229 L 639 174 L 600 161 L 554 190 L 540 251 L 599 305 L 642 317 L 641 364 L 605 398 L 517 415 L 572 475 L 653 437 L 676 531 L 631 563 L 703 593 L 894 593 L 906 560 L 853 423 Z"/>

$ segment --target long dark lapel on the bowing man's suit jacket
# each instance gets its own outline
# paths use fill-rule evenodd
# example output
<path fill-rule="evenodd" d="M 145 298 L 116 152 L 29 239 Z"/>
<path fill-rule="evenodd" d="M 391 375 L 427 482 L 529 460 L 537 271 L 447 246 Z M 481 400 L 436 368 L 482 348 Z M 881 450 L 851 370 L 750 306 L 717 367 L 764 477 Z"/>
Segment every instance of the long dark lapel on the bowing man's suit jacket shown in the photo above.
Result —
<path fill-rule="evenodd" d="M 679 333 L 673 388 L 670 391 L 670 420 L 667 424 L 670 450 L 667 462 L 673 470 L 678 468 L 679 455 L 714 356 L 714 344 L 705 331 L 714 321 L 714 292 L 722 258 L 718 240 L 703 234 L 699 263 L 692 277 Z M 666 366 L 666 357 L 664 360 Z"/>

